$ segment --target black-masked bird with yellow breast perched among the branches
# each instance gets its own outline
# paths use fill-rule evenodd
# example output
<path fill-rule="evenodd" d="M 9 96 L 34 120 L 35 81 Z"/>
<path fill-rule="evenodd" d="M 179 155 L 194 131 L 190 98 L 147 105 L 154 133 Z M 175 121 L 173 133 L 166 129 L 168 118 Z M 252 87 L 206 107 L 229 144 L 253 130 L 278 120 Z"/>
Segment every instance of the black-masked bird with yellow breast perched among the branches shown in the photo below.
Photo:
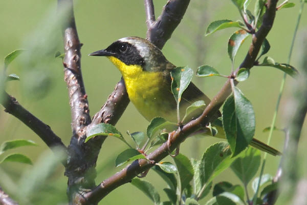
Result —
<path fill-rule="evenodd" d="M 170 74 L 176 66 L 166 59 L 157 46 L 147 39 L 131 36 L 120 38 L 106 49 L 89 55 L 105 56 L 119 69 L 130 101 L 145 119 L 150 121 L 155 117 L 163 117 L 171 122 L 177 121 L 177 103 L 171 92 Z M 198 100 L 203 100 L 205 105 L 211 101 L 191 82 L 181 97 L 180 116 L 185 113 L 188 106 Z M 202 109 L 198 109 L 186 120 L 198 117 L 202 112 Z M 220 116 L 221 113 L 218 111 L 214 117 Z M 223 129 L 218 129 L 218 132 L 220 130 L 223 132 Z M 218 136 L 225 138 L 225 133 Z M 250 145 L 274 156 L 281 155 L 278 150 L 255 138 Z"/>

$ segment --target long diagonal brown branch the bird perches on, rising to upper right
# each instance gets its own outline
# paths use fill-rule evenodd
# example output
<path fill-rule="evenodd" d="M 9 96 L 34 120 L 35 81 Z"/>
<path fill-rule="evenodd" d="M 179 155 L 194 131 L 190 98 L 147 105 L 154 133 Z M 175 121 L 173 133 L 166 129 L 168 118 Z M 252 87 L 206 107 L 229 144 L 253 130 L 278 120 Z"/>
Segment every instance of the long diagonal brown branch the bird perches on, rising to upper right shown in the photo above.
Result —
<path fill-rule="evenodd" d="M 249 53 L 247 55 L 249 57 L 245 58 L 245 60 L 241 64 L 241 65 L 251 65 L 250 67 L 246 67 L 246 68 L 251 68 L 253 66 L 254 60 L 256 59 L 257 54 L 259 52 L 259 48 L 261 47 L 264 41 L 264 38 L 267 36 L 268 32 L 270 31 L 273 25 L 277 1 L 278 0 L 268 1 L 268 9 L 265 13 L 264 23 L 261 25 L 261 27 L 265 27 L 265 28 L 260 27 L 258 32 L 255 34 L 256 36 L 259 36 L 259 38 L 258 39 L 253 38 L 253 43 L 250 46 Z M 173 1 L 169 1 L 169 2 L 173 2 Z M 270 27 L 268 25 L 270 25 Z M 161 159 L 166 157 L 169 153 L 169 150 L 173 151 L 190 134 L 197 131 L 199 128 L 203 127 L 203 125 L 208 124 L 211 118 L 214 117 L 214 114 L 216 113 L 216 111 L 220 109 L 220 107 L 223 105 L 224 101 L 230 94 L 231 94 L 230 80 L 227 80 L 226 84 L 223 86 L 221 91 L 213 98 L 211 103 L 206 107 L 206 109 L 204 110 L 203 114 L 200 117 L 188 122 L 188 124 L 184 125 L 182 128 L 179 128 L 178 130 L 169 133 L 169 137 L 171 140 L 170 147 L 168 147 L 167 142 L 165 142 L 157 150 L 148 154 L 147 158 L 149 160 L 159 162 Z M 127 166 L 120 172 L 102 181 L 100 185 L 97 186 L 91 192 L 84 194 L 84 198 L 83 198 L 84 203 L 85 202 L 97 203 L 103 197 L 105 197 L 109 192 L 123 185 L 124 183 L 129 182 L 135 176 L 148 170 L 152 166 L 154 165 L 152 163 L 148 163 L 147 160 L 134 161 L 133 163 L 131 163 L 131 165 Z"/>

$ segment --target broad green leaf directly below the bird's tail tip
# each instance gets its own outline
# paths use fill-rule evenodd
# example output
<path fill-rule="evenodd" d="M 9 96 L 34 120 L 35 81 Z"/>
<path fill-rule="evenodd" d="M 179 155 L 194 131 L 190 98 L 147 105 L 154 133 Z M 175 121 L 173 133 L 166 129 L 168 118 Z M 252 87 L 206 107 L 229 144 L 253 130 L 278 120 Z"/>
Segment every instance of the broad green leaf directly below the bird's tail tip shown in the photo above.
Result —
<path fill-rule="evenodd" d="M 243 184 L 247 186 L 257 173 L 260 161 L 260 151 L 249 147 L 232 163 L 231 169 Z"/>

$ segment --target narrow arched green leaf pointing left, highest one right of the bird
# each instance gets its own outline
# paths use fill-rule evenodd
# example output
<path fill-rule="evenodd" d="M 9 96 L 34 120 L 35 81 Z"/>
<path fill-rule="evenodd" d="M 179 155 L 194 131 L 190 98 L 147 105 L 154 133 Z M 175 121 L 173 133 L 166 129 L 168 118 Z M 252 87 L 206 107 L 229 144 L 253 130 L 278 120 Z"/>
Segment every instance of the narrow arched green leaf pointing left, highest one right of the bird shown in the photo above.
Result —
<path fill-rule="evenodd" d="M 244 29 L 245 25 L 240 20 L 237 20 L 236 22 L 233 22 L 232 20 L 215 20 L 214 22 L 210 23 L 206 30 L 206 36 L 214 33 L 215 31 L 226 29 L 230 27 L 237 27 Z"/>

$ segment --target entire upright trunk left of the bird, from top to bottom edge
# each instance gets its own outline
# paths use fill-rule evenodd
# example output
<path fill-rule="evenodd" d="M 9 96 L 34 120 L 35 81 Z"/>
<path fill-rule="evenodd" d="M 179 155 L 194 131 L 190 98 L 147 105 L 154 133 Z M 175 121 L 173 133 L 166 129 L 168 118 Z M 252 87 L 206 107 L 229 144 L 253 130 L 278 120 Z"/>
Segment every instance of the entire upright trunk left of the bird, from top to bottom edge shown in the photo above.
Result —
<path fill-rule="evenodd" d="M 80 189 L 95 187 L 96 173 L 94 167 L 98 156 L 95 150 L 99 150 L 101 145 L 96 145 L 96 140 L 84 144 L 85 128 L 91 124 L 92 120 L 81 73 L 80 49 L 82 44 L 75 24 L 73 0 L 58 0 L 58 13 L 63 16 L 64 80 L 69 92 L 72 115 L 71 127 L 73 130 L 73 136 L 68 147 L 69 160 L 65 175 L 68 176 L 70 203 L 75 204 L 81 194 Z"/>

